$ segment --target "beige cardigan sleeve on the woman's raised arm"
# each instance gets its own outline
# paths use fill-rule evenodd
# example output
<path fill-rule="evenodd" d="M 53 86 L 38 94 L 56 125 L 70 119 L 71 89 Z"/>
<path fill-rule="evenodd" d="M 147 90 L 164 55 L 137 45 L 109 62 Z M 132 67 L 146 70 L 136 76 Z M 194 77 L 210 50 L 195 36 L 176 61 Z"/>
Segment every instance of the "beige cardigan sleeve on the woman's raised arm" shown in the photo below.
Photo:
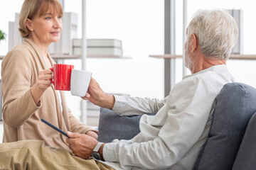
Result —
<path fill-rule="evenodd" d="M 12 50 L 2 61 L 3 117 L 11 128 L 23 125 L 41 108 L 41 101 L 35 100 L 35 91 L 31 88 L 31 77 L 37 73 L 32 71 L 29 55 L 31 54 L 26 51 Z"/>

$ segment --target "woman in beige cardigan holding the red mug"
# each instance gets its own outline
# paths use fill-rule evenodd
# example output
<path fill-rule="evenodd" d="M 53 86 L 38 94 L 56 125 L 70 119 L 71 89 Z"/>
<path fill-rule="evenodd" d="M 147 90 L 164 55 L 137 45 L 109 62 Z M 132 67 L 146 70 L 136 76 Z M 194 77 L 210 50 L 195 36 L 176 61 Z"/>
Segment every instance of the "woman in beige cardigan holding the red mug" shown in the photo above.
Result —
<path fill-rule="evenodd" d="M 80 123 L 70 113 L 63 92 L 55 91 L 50 81 L 52 72 L 49 68 L 55 62 L 47 50 L 51 42 L 60 38 L 62 16 L 58 0 L 23 2 L 18 29 L 23 42 L 7 53 L 1 67 L 3 142 L 43 140 L 50 147 L 70 151 L 66 137 L 41 123 L 41 118 L 65 132 L 97 138 L 97 131 Z"/>

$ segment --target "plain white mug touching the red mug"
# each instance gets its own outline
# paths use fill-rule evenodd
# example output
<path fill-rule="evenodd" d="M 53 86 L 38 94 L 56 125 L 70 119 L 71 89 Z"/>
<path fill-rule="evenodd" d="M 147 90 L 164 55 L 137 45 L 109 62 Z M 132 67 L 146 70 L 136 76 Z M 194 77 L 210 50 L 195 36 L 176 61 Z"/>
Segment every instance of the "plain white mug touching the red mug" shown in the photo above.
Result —
<path fill-rule="evenodd" d="M 70 78 L 70 91 L 73 96 L 85 96 L 90 84 L 91 72 L 72 69 Z"/>

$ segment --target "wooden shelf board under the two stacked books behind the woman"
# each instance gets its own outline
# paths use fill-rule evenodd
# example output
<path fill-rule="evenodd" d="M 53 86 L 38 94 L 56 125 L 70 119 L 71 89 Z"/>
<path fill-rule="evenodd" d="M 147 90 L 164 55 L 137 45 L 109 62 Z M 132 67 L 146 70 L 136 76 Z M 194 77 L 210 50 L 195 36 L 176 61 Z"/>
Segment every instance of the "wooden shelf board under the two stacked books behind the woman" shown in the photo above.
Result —
<path fill-rule="evenodd" d="M 80 55 L 50 55 L 53 60 L 65 60 L 65 59 L 81 59 Z M 0 55 L 0 60 L 4 58 L 4 55 Z M 116 56 L 116 55 L 88 55 L 87 58 L 108 58 L 108 59 L 132 59 L 132 57 Z"/>

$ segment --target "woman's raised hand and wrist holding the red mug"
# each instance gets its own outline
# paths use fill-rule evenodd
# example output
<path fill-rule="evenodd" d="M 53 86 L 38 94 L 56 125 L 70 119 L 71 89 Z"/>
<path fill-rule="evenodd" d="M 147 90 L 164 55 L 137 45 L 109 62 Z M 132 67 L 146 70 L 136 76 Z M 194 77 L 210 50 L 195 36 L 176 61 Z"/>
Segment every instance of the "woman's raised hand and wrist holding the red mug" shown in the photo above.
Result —
<path fill-rule="evenodd" d="M 31 94 L 36 105 L 38 105 L 43 92 L 50 86 L 50 79 L 53 79 L 53 74 L 50 69 L 43 69 L 39 72 L 38 80 L 31 87 Z"/>

